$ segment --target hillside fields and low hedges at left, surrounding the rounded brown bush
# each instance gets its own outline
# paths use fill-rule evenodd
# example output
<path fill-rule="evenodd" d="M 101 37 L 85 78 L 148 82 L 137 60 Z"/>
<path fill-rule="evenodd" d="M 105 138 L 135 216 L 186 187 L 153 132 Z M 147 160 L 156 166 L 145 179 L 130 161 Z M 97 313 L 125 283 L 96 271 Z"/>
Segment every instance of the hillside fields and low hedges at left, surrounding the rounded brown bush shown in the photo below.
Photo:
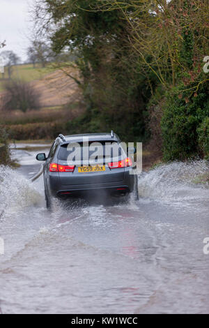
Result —
<path fill-rule="evenodd" d="M 33 68 L 32 64 L 13 67 L 13 78 L 30 82 L 40 100 L 39 110 L 0 110 L 0 125 L 6 128 L 12 140 L 52 140 L 59 133 L 66 133 L 66 122 L 84 111 L 81 91 L 71 77 L 77 76 L 75 68 L 63 70 L 53 64 L 46 68 Z M 8 77 L 5 70 L 4 81 L 0 73 L 0 100 L 3 97 L 3 82 Z"/>

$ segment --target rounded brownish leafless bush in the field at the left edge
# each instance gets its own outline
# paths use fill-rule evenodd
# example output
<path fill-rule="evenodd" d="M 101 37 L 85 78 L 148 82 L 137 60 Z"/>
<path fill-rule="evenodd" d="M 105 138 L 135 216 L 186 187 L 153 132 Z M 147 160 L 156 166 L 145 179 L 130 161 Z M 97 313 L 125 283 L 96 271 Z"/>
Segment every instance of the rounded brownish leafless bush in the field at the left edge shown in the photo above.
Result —
<path fill-rule="evenodd" d="M 5 94 L 3 95 L 2 110 L 38 110 L 40 108 L 40 94 L 32 84 L 21 80 L 10 80 L 5 83 Z"/>

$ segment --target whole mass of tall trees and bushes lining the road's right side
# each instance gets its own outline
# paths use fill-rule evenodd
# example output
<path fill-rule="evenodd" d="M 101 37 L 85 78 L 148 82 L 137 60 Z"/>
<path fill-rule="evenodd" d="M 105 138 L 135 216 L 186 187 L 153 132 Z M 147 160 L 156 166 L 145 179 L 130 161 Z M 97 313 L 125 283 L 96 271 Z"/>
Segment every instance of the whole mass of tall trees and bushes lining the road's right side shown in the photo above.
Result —
<path fill-rule="evenodd" d="M 34 19 L 54 53 L 77 52 L 86 111 L 68 131 L 113 128 L 164 161 L 207 156 L 207 0 L 37 0 Z"/>

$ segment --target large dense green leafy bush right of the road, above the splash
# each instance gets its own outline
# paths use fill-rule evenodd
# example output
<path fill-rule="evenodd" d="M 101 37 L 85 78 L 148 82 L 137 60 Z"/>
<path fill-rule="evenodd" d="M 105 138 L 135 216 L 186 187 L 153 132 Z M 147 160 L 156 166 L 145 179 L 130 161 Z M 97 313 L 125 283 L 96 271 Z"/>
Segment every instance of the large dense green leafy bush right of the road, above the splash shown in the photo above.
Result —
<path fill-rule="evenodd" d="M 180 85 L 167 94 L 161 121 L 165 161 L 201 155 L 197 128 L 209 117 L 208 84 L 198 92 L 187 88 Z"/>

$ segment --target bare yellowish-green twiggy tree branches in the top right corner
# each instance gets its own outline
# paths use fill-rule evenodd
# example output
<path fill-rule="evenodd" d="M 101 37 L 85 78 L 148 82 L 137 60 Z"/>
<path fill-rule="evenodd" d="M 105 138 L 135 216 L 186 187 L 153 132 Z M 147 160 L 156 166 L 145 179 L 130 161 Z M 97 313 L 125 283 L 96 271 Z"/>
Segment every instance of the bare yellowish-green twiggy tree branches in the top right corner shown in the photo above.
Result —
<path fill-rule="evenodd" d="M 178 83 L 180 72 L 191 74 L 192 65 L 192 80 L 198 80 L 208 52 L 208 0 L 99 0 L 98 10 L 121 10 L 130 25 L 132 49 L 165 88 Z"/>

